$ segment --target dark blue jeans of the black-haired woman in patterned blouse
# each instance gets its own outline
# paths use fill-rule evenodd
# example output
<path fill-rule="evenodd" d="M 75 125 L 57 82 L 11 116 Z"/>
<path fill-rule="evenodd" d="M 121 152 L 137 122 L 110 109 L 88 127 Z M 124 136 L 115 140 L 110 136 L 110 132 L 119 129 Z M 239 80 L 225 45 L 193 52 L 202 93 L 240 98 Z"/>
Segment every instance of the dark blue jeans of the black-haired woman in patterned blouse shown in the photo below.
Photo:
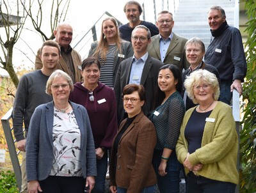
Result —
<path fill-rule="evenodd" d="M 160 176 L 158 167 L 161 163 L 163 151 L 154 150 L 152 164 L 157 176 L 157 185 L 161 193 L 179 193 L 180 192 L 180 169 L 182 165 L 177 160 L 176 152 L 173 151 L 166 166 L 167 174 Z"/>

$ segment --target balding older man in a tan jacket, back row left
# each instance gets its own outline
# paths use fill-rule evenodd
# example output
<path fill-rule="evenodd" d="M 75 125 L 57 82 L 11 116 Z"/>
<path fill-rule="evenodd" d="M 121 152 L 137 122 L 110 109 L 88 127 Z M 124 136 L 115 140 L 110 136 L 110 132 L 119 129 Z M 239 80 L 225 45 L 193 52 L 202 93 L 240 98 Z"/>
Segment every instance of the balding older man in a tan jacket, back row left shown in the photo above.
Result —
<path fill-rule="evenodd" d="M 58 63 L 57 69 L 67 72 L 74 83 L 79 82 L 81 80 L 79 68 L 81 67 L 82 61 L 78 52 L 70 46 L 73 36 L 72 26 L 68 23 L 58 24 L 56 30 L 54 30 L 54 36 L 56 42 L 58 42 L 61 47 L 61 59 Z M 38 50 L 35 61 L 35 70 L 41 68 L 42 61 L 40 60 Z"/>

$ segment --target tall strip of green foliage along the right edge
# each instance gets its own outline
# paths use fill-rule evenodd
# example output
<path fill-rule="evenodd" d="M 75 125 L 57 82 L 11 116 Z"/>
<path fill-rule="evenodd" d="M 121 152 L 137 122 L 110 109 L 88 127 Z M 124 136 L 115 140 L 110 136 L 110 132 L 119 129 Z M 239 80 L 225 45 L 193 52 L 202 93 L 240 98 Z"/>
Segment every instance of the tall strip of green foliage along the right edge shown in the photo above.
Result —
<path fill-rule="evenodd" d="M 256 192 L 256 4 L 254 0 L 245 3 L 248 39 L 246 41 L 247 75 L 243 85 L 244 108 L 243 129 L 240 132 L 240 190 L 241 193 Z"/>

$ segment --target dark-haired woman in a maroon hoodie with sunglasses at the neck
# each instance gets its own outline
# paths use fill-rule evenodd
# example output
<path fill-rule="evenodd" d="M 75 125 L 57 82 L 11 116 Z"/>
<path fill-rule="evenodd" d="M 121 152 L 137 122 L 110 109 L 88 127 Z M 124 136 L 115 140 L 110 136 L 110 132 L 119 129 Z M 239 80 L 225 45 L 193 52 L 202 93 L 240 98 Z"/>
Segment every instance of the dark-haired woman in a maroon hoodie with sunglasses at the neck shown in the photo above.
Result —
<path fill-rule="evenodd" d="M 105 190 L 108 149 L 117 132 L 116 100 L 113 89 L 99 82 L 100 63 L 93 56 L 82 63 L 84 82 L 74 84 L 70 100 L 86 107 L 92 126 L 97 157 L 97 177 L 92 192 Z"/>

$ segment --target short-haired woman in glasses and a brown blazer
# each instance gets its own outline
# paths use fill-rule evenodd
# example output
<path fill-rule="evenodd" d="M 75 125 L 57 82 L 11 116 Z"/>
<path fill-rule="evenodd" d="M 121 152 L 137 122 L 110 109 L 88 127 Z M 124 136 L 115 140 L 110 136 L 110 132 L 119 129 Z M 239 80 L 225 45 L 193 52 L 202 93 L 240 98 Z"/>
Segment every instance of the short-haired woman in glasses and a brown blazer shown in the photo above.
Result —
<path fill-rule="evenodd" d="M 122 121 L 113 140 L 110 190 L 112 193 L 153 193 L 157 183 L 152 166 L 156 130 L 141 111 L 145 89 L 138 84 L 128 84 L 124 87 L 123 97 L 128 118 Z"/>

